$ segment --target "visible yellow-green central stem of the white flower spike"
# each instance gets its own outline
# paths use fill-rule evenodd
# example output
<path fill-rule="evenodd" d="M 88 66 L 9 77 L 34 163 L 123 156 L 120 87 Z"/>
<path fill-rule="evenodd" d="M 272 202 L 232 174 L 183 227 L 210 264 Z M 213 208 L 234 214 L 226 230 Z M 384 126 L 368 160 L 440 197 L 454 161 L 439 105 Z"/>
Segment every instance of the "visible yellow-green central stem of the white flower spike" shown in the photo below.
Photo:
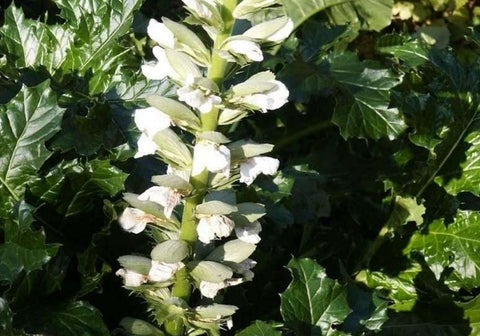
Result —
<path fill-rule="evenodd" d="M 225 73 L 227 70 L 227 61 L 220 57 L 215 50 L 220 48 L 223 42 L 232 34 L 235 20 L 232 12 L 237 5 L 237 0 L 225 0 L 222 8 L 222 17 L 225 23 L 224 30 L 217 36 L 214 43 L 214 51 L 212 53 L 212 62 L 208 69 L 208 78 L 213 80 L 221 89 Z M 201 115 L 202 131 L 214 131 L 218 126 L 218 108 L 213 108 L 209 113 Z M 185 207 L 183 209 L 182 226 L 180 228 L 180 239 L 189 242 L 192 246 L 197 242 L 197 220 L 195 218 L 195 207 L 203 201 L 207 187 L 208 187 L 208 171 L 204 170 L 196 176 L 190 177 L 190 183 L 195 187 L 196 194 L 187 198 Z M 191 294 L 190 280 L 188 279 L 188 272 L 185 268 L 181 269 L 175 274 L 175 284 L 173 285 L 172 294 L 176 297 L 189 300 Z M 180 336 L 184 332 L 184 328 L 179 323 L 180 321 L 173 320 L 165 323 L 165 330 L 169 335 Z"/>

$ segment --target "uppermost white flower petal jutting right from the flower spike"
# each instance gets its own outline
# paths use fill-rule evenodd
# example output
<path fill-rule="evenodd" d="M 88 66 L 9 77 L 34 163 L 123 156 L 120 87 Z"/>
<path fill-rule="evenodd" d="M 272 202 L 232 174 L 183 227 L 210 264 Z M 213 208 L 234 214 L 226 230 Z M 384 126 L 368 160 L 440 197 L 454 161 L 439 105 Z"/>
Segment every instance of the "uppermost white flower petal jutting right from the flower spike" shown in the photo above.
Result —
<path fill-rule="evenodd" d="M 293 28 L 294 23 L 292 19 L 288 17 L 280 17 L 253 26 L 243 35 L 258 40 L 280 42 L 290 36 Z"/>

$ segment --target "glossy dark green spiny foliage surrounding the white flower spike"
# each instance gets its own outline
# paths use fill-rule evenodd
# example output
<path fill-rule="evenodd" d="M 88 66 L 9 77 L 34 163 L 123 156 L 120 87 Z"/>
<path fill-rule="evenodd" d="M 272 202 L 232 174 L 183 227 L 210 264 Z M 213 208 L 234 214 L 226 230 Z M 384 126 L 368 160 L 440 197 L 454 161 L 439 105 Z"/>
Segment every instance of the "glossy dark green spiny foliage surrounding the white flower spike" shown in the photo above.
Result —
<path fill-rule="evenodd" d="M 480 7 L 283 2 L 298 30 L 255 66 L 291 104 L 226 130 L 283 164 L 239 195 L 268 216 L 231 333 L 479 334 Z M 181 2 L 0 8 L 2 335 L 121 335 L 149 318 L 112 272 L 149 250 L 115 222 L 121 192 L 165 169 L 132 159 L 133 110 L 171 90 L 139 73 L 146 24 Z"/>

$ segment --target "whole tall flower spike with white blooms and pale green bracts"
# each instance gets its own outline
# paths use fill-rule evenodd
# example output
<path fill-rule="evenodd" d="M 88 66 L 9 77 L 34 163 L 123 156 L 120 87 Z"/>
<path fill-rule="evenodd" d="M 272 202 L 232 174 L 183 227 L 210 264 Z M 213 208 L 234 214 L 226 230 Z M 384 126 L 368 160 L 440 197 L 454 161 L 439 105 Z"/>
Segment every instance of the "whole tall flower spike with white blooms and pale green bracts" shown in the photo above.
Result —
<path fill-rule="evenodd" d="M 122 326 L 133 335 L 219 335 L 221 328 L 231 328 L 238 308 L 217 303 L 217 294 L 252 280 L 256 263 L 250 256 L 265 214 L 262 204 L 237 204 L 234 186 L 273 175 L 279 166 L 265 156 L 272 145 L 231 142 L 217 128 L 287 102 L 286 86 L 271 71 L 240 78 L 242 69 L 263 60 L 262 48 L 290 35 L 293 22 L 278 0 L 183 2 L 190 13 L 185 23 L 201 26 L 205 34 L 166 18 L 150 21 L 157 62 L 145 64 L 142 72 L 171 81 L 176 99 L 151 96 L 150 107 L 134 116 L 141 131 L 136 157 L 157 155 L 168 169 L 152 178 L 156 186 L 125 194 L 130 207 L 119 218 L 128 232 L 147 228 L 156 244 L 149 258 L 119 258 L 117 274 L 147 301 L 158 324 L 126 318 Z M 250 28 L 233 35 L 239 19 Z"/>

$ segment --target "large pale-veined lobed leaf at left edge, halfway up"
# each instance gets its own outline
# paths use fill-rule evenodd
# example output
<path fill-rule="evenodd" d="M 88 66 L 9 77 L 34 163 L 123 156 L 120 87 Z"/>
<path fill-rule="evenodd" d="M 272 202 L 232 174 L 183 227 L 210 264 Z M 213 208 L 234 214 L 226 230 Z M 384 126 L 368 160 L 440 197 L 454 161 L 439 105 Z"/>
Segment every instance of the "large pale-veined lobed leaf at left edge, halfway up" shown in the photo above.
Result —
<path fill-rule="evenodd" d="M 50 156 L 45 141 L 60 129 L 63 113 L 49 81 L 24 86 L 0 106 L 0 193 L 17 200 L 22 197 Z"/>

